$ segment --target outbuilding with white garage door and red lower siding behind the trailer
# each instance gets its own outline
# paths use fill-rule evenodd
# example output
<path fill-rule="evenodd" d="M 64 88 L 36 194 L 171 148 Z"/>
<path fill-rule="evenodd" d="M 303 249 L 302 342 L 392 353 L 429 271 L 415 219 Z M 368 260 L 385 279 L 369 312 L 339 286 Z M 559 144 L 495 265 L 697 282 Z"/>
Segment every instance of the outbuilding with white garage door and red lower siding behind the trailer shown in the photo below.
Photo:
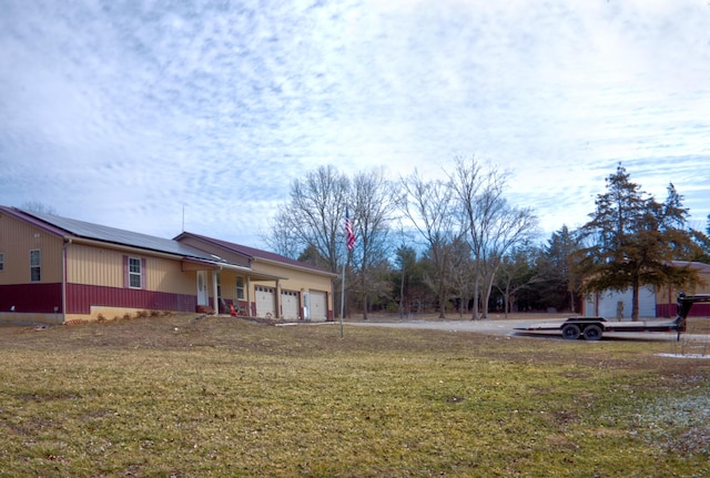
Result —
<path fill-rule="evenodd" d="M 686 294 L 710 294 L 710 265 L 699 262 L 673 261 L 678 267 L 692 267 L 698 269 L 701 284 L 694 289 L 683 291 Z M 677 311 L 677 297 L 680 291 L 673 287 L 642 286 L 639 288 L 639 317 L 674 317 Z M 626 291 L 607 291 L 600 294 L 590 294 L 585 298 L 582 315 L 601 316 L 615 319 L 619 316 L 623 319 L 631 317 L 631 288 Z M 692 317 L 710 316 L 710 304 L 696 304 L 690 309 Z"/>

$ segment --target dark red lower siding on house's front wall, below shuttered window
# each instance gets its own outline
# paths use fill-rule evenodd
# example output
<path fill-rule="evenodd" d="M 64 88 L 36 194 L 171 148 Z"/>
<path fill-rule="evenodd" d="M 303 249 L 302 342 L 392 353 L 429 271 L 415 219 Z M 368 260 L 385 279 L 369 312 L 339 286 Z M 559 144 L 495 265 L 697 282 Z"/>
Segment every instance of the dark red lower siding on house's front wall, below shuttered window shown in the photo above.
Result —
<path fill-rule="evenodd" d="M 126 307 L 155 311 L 195 312 L 197 297 L 133 288 L 100 287 L 95 285 L 68 284 L 67 312 L 89 314 L 91 306 Z"/>

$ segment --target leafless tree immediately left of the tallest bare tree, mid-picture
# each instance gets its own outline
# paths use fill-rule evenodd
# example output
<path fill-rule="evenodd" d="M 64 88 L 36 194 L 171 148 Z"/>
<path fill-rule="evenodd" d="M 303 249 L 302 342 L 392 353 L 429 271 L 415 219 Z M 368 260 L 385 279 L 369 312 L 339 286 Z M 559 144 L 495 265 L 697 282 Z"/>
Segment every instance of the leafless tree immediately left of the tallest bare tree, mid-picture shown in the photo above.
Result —
<path fill-rule="evenodd" d="M 428 246 L 434 266 L 429 284 L 438 298 L 439 318 L 446 318 L 452 244 L 459 235 L 452 190 L 442 181 L 425 181 L 417 171 L 404 177 L 402 186 L 402 211 Z"/>

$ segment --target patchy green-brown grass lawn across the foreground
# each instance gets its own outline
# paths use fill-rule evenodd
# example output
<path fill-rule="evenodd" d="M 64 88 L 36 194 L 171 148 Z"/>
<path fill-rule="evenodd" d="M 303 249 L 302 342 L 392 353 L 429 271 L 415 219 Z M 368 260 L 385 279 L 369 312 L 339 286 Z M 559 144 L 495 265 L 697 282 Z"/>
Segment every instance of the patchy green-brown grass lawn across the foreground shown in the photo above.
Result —
<path fill-rule="evenodd" d="M 4 327 L 0 476 L 710 476 L 710 360 L 656 355 L 673 347 L 192 315 Z"/>

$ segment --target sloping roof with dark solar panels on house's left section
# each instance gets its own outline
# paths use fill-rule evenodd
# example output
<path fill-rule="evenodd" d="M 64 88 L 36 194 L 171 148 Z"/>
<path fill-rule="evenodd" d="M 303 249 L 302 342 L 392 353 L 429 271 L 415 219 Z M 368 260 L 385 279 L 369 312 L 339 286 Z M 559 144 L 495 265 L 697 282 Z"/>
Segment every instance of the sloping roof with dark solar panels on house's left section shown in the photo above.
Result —
<path fill-rule="evenodd" d="M 118 244 L 130 247 L 138 247 L 146 251 L 175 254 L 183 257 L 196 257 L 205 261 L 219 262 L 220 257 L 210 253 L 190 247 L 178 241 L 155 237 L 148 234 L 134 233 L 115 227 L 92 224 L 83 221 L 60 217 L 52 214 L 38 213 L 14 209 L 22 214 L 40 220 L 55 228 L 64 231 L 70 236 L 82 237 L 93 241 Z"/>

